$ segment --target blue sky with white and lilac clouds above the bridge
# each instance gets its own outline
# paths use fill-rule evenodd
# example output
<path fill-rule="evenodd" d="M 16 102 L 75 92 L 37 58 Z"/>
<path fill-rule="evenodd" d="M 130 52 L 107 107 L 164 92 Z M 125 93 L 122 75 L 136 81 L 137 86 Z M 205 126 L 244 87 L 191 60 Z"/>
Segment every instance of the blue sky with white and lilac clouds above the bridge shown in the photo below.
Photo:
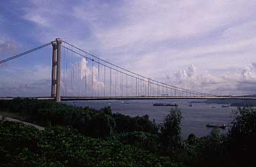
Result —
<path fill-rule="evenodd" d="M 256 94 L 256 1 L 0 4 L 0 60 L 60 37 L 173 86 L 218 95 Z M 49 94 L 50 67 L 51 47 L 1 64 L 0 96 L 31 88 L 30 96 Z"/>

